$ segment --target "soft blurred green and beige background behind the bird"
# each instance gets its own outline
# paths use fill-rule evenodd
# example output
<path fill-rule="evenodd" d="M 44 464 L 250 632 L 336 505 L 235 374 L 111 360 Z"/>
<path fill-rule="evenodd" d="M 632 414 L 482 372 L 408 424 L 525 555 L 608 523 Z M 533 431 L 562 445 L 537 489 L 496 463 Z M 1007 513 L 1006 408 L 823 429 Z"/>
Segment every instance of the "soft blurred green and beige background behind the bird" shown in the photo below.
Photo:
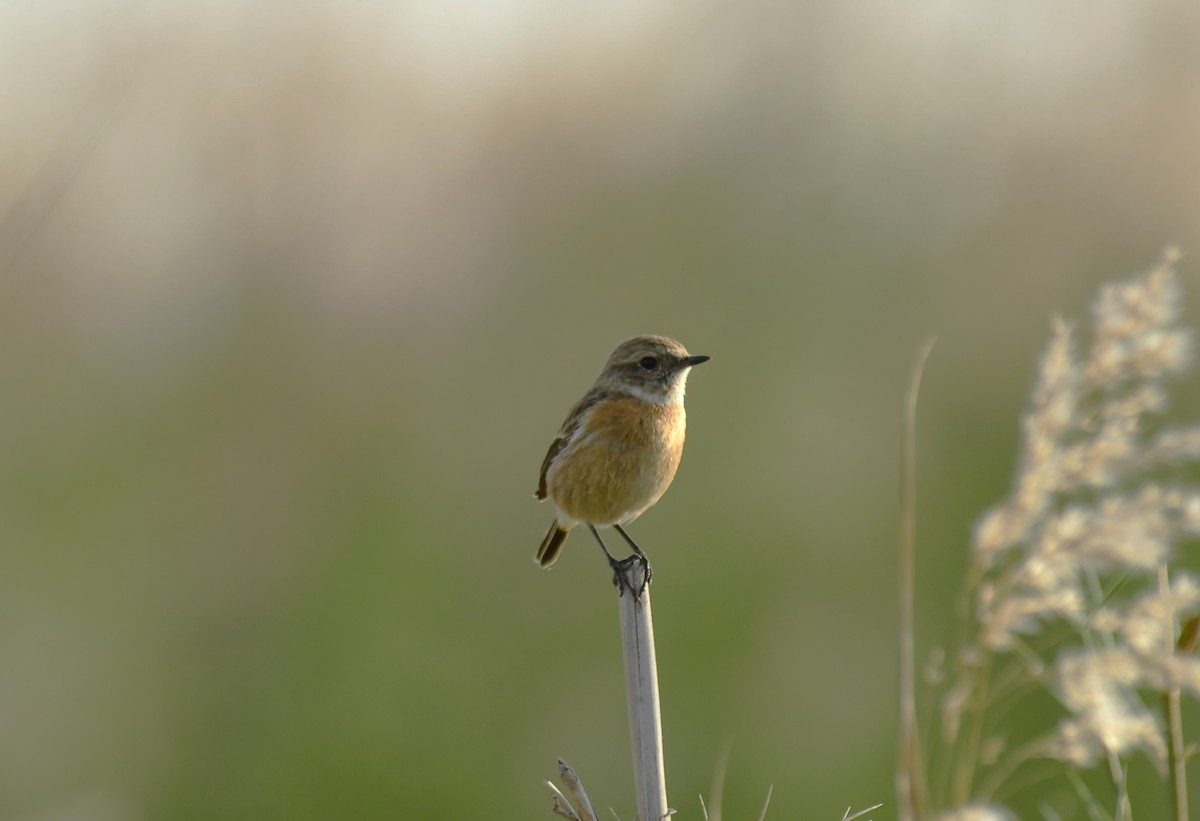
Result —
<path fill-rule="evenodd" d="M 1168 242 L 1200 299 L 1198 36 L 1172 0 L 4 4 L 0 816 L 550 817 L 562 755 L 632 817 L 608 574 L 581 534 L 535 570 L 532 492 L 654 332 L 713 356 L 631 531 L 672 804 L 730 744 L 730 817 L 894 817 L 911 360 L 937 334 L 924 655 L 1050 317 Z"/>

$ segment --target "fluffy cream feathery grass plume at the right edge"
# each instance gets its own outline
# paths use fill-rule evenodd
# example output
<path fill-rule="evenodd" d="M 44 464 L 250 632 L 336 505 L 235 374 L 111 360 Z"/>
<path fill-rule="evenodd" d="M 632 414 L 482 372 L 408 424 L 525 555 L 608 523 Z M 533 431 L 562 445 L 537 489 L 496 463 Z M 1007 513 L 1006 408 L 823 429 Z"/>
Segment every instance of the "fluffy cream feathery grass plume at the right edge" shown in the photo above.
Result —
<path fill-rule="evenodd" d="M 1163 772 L 1168 760 L 1141 693 L 1200 695 L 1200 659 L 1176 648 L 1178 623 L 1200 612 L 1200 582 L 1168 573 L 1180 543 L 1200 535 L 1200 489 L 1172 474 L 1200 461 L 1200 425 L 1157 418 L 1166 379 L 1192 362 L 1177 262 L 1169 250 L 1100 289 L 1086 356 L 1068 322 L 1051 325 L 1012 490 L 973 533 L 936 792 L 959 809 L 940 819 L 1006 817 L 988 815 L 1003 813 L 994 796 L 1031 759 L 1105 763 L 1114 816 L 1128 817 L 1122 757 L 1144 751 Z M 996 738 L 1000 709 L 1038 690 L 1062 706 L 1057 726 Z"/>

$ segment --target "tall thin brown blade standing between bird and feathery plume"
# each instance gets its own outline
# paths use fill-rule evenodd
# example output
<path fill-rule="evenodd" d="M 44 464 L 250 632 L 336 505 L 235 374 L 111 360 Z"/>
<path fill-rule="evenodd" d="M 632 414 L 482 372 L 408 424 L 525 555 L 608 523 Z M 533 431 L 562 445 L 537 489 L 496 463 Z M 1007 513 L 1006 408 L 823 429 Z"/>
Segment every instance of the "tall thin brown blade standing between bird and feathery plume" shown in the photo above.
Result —
<path fill-rule="evenodd" d="M 913 589 L 917 573 L 917 396 L 929 340 L 917 354 L 905 401 L 904 467 L 900 489 L 900 738 L 896 753 L 896 802 L 901 821 L 920 817 L 925 793 L 917 735 L 917 665 L 913 649 Z"/>

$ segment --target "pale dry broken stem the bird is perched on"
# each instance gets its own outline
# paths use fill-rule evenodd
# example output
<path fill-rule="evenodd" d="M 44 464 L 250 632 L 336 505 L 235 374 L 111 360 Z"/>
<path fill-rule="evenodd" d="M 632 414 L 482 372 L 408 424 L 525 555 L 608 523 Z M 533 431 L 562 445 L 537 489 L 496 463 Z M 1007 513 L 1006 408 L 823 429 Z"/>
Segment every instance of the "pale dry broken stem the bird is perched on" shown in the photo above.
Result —
<path fill-rule="evenodd" d="M 629 699 L 629 735 L 634 748 L 634 786 L 637 790 L 637 817 L 659 821 L 668 813 L 667 781 L 662 763 L 662 718 L 659 709 L 659 671 L 654 655 L 654 621 L 650 617 L 650 588 L 643 587 L 646 568 L 634 563 L 630 587 L 617 597 L 620 613 L 620 646 L 625 655 L 625 694 Z M 619 591 L 619 588 L 618 588 Z"/>

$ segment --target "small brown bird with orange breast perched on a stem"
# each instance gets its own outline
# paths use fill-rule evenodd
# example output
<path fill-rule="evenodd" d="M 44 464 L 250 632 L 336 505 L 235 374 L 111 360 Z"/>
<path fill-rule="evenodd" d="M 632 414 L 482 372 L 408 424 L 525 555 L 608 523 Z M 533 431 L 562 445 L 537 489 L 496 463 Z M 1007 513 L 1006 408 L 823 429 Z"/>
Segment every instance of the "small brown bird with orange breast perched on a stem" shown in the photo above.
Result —
<path fill-rule="evenodd" d="M 550 498 L 557 513 L 535 563 L 553 564 L 571 528 L 586 525 L 608 557 L 614 582 L 629 587 L 624 571 L 632 562 L 644 565 L 649 580 L 646 553 L 622 525 L 646 513 L 674 479 L 686 427 L 688 372 L 706 361 L 666 336 L 635 336 L 608 355 L 541 463 L 535 496 Z M 634 550 L 628 559 L 618 562 L 605 547 L 596 528 L 607 526 Z"/>

